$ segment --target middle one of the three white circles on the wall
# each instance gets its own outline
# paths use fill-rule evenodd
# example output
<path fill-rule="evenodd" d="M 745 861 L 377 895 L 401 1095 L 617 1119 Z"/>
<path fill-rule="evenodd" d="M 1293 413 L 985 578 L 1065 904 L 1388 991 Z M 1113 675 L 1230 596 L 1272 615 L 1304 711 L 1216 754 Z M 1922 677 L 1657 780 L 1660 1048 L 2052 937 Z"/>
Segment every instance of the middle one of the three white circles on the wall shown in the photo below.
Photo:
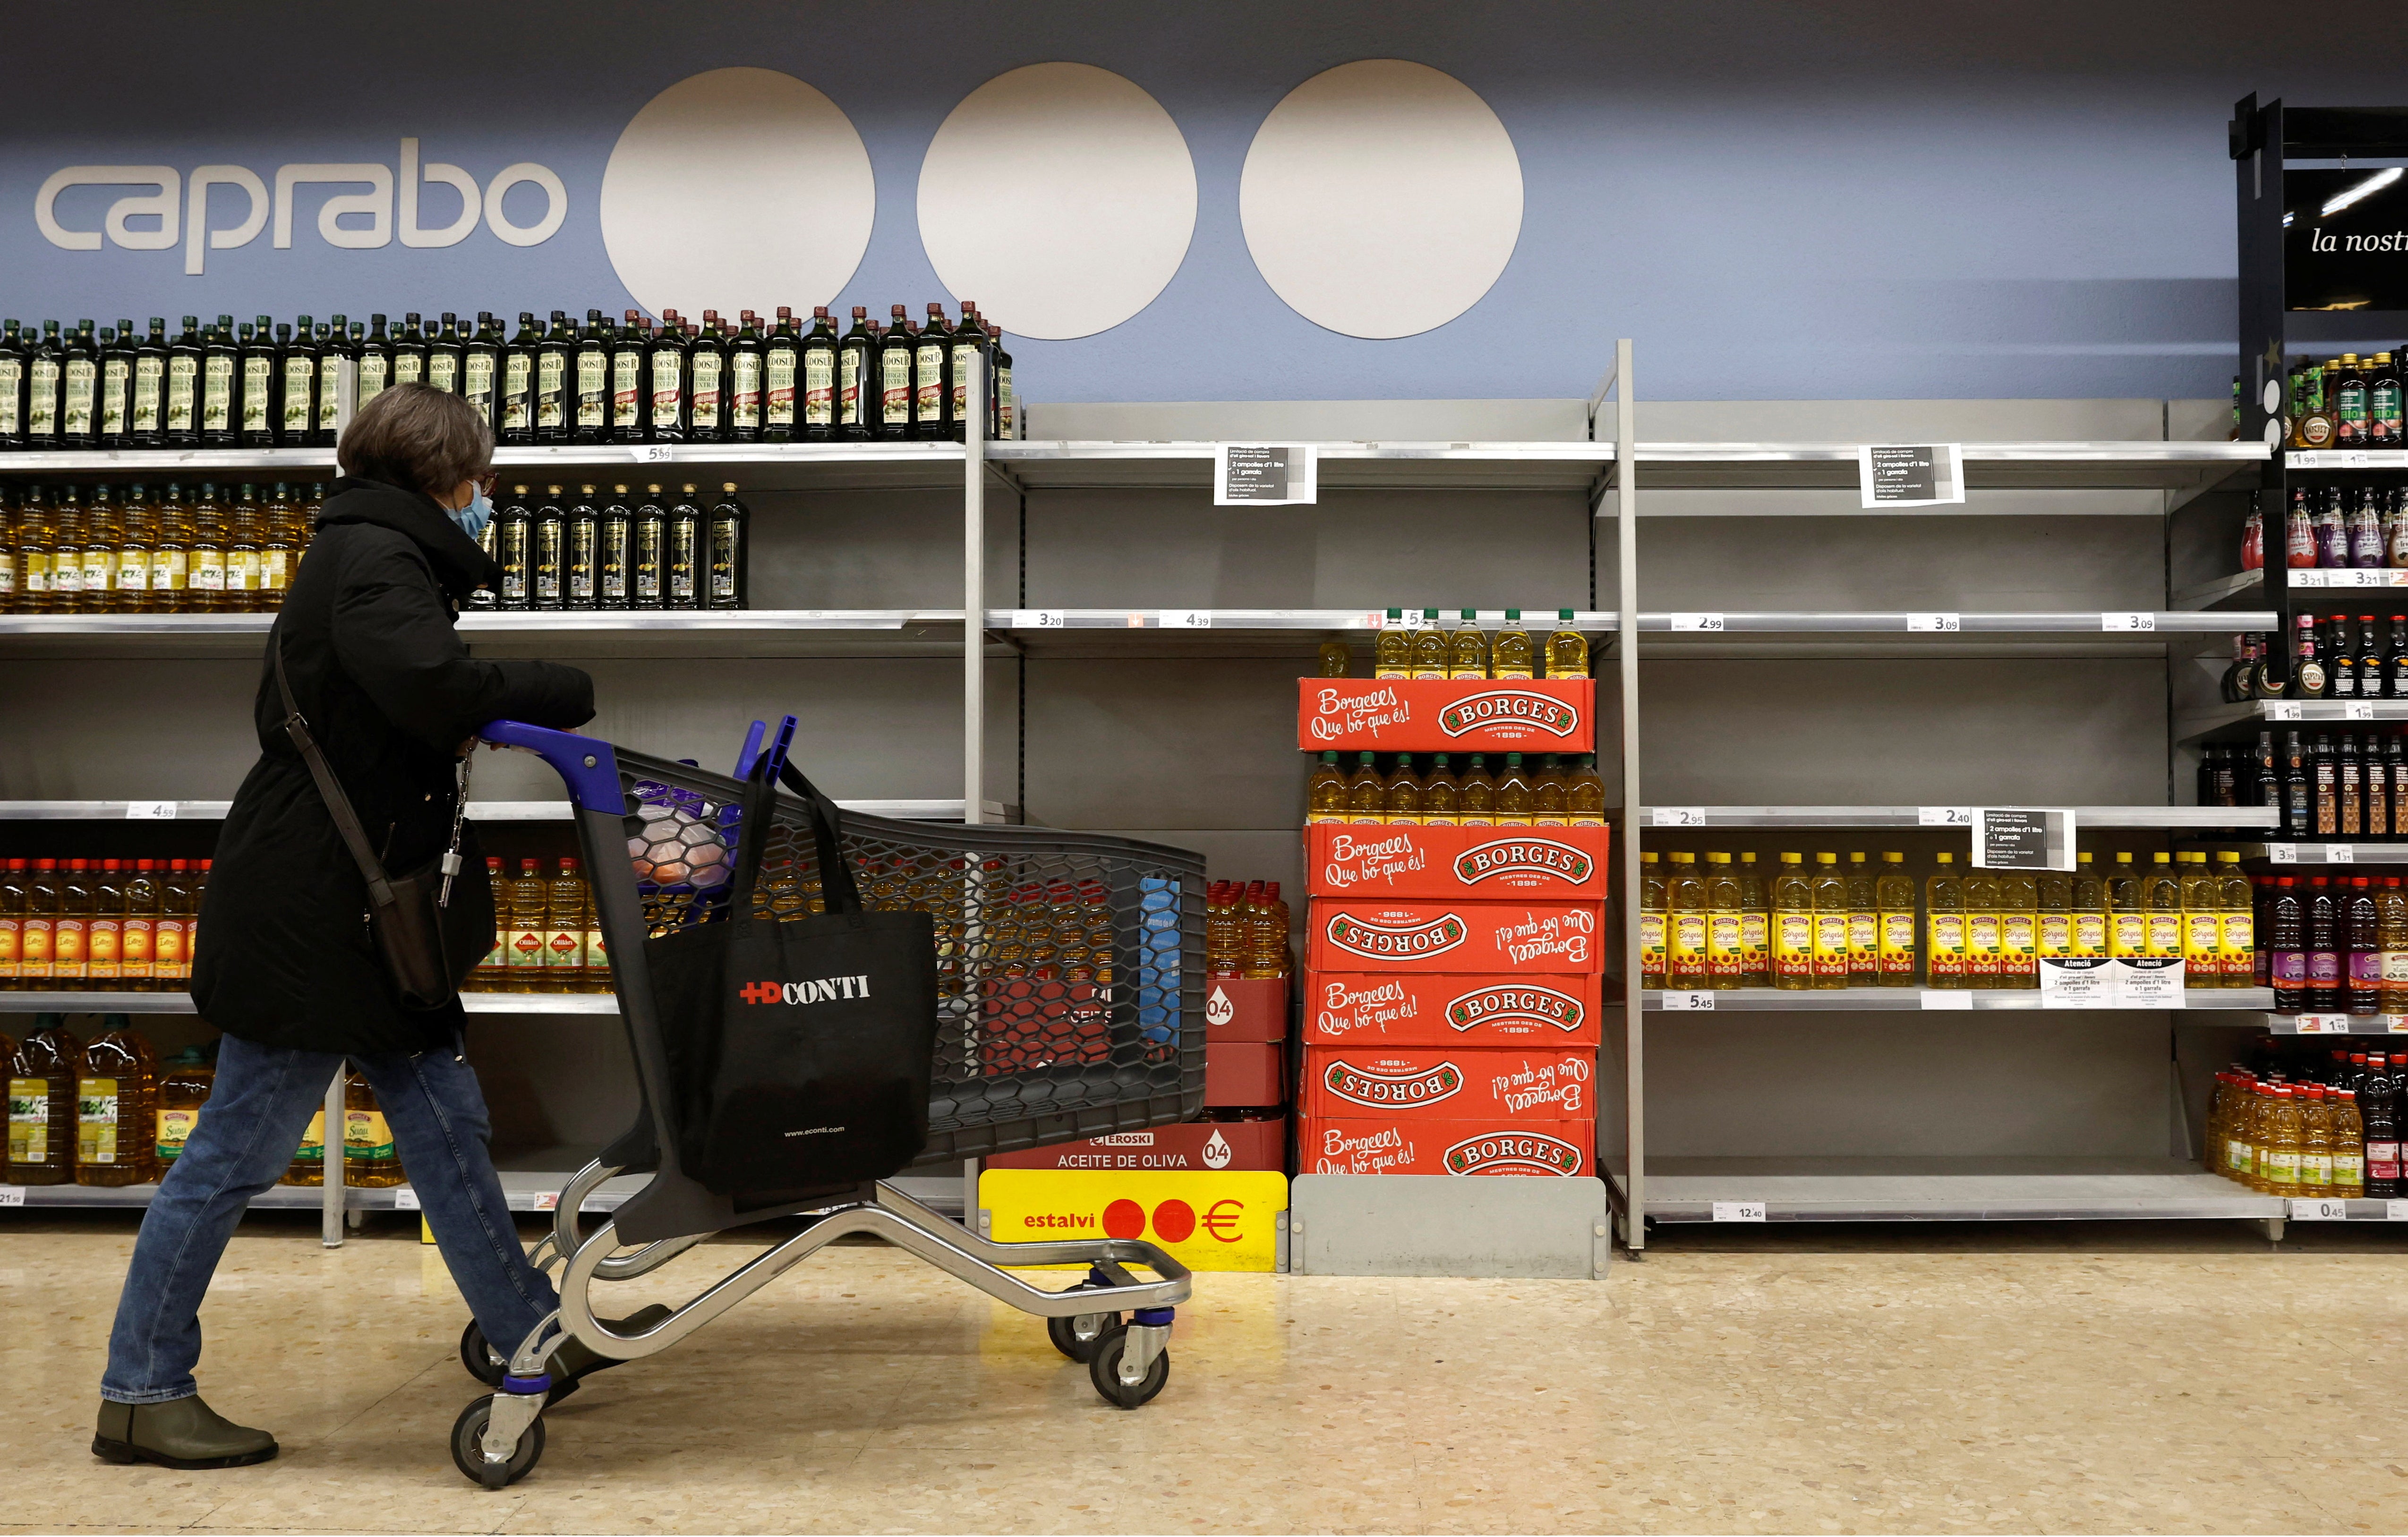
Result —
<path fill-rule="evenodd" d="M 920 246 L 1009 332 L 1067 342 L 1153 304 L 1197 231 L 1178 123 L 1096 65 L 1026 65 L 961 99 L 920 161 Z"/>

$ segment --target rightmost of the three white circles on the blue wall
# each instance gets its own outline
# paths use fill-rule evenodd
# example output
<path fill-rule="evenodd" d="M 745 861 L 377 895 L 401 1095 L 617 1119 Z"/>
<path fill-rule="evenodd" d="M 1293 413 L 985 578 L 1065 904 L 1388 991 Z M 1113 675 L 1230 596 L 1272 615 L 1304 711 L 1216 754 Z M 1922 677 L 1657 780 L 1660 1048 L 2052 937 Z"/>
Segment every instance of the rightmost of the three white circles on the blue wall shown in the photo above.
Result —
<path fill-rule="evenodd" d="M 1522 157 L 1462 80 L 1365 58 L 1296 87 L 1255 130 L 1238 222 L 1271 292 L 1348 337 L 1462 316 L 1522 236 Z"/>

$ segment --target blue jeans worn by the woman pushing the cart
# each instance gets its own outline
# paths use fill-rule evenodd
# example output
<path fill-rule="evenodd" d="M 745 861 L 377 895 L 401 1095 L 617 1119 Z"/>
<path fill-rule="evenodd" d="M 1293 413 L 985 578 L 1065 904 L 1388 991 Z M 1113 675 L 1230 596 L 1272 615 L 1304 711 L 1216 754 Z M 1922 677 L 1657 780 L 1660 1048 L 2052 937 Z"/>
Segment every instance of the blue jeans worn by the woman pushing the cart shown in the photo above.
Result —
<path fill-rule="evenodd" d="M 527 1337 L 559 1294 L 527 1265 L 518 1226 L 486 1154 L 484 1094 L 467 1058 L 453 1050 L 352 1058 L 376 1089 L 409 1173 L 450 1265 L 453 1282 L 494 1349 L 508 1354 Z M 108 1330 L 108 1371 L 101 1397 L 118 1404 L 164 1404 L 197 1392 L 200 1298 L 243 1205 L 277 1183 L 325 1106 L 325 1086 L 342 1058 L 323 1050 L 275 1050 L 224 1036 L 217 1084 L 183 1156 L 159 1180 L 142 1214 L 142 1236 L 118 1294 Z M 330 1127 L 332 1156 L 342 1132 Z"/>

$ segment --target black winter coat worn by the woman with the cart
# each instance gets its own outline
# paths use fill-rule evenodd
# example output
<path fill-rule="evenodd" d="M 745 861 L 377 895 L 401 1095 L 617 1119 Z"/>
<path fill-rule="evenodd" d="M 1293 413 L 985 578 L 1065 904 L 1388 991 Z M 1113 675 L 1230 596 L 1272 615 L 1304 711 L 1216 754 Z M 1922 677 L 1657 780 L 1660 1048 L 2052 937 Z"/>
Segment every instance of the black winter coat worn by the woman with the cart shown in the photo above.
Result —
<path fill-rule="evenodd" d="M 501 569 L 431 496 L 373 479 L 335 482 L 294 573 L 270 646 L 284 648 L 294 701 L 352 797 L 385 870 L 450 843 L 453 761 L 486 720 L 568 730 L 592 720 L 592 679 L 556 662 L 486 662 L 453 622 Z M 217 836 L 200 911 L 193 1000 L 217 1029 L 301 1050 L 429 1050 L 460 1029 L 460 1005 L 412 1012 L 368 937 L 368 887 L 284 735 L 262 653 L 253 703 L 260 761 Z M 453 901 L 486 913 L 474 838 Z"/>

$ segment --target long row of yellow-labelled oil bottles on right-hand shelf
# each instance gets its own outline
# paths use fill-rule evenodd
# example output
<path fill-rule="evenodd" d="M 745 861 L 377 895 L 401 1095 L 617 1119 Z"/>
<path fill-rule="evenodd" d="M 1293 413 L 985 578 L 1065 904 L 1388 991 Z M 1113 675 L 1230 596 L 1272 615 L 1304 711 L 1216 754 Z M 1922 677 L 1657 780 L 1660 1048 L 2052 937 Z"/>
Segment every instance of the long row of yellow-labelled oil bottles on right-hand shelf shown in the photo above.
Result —
<path fill-rule="evenodd" d="M 2239 855 L 2117 853 L 2097 874 L 1967 870 L 1917 882 L 1907 855 L 1640 855 L 1647 988 L 2037 988 L 2042 959 L 2179 956 L 2191 988 L 2254 988 L 2256 894 Z"/>

